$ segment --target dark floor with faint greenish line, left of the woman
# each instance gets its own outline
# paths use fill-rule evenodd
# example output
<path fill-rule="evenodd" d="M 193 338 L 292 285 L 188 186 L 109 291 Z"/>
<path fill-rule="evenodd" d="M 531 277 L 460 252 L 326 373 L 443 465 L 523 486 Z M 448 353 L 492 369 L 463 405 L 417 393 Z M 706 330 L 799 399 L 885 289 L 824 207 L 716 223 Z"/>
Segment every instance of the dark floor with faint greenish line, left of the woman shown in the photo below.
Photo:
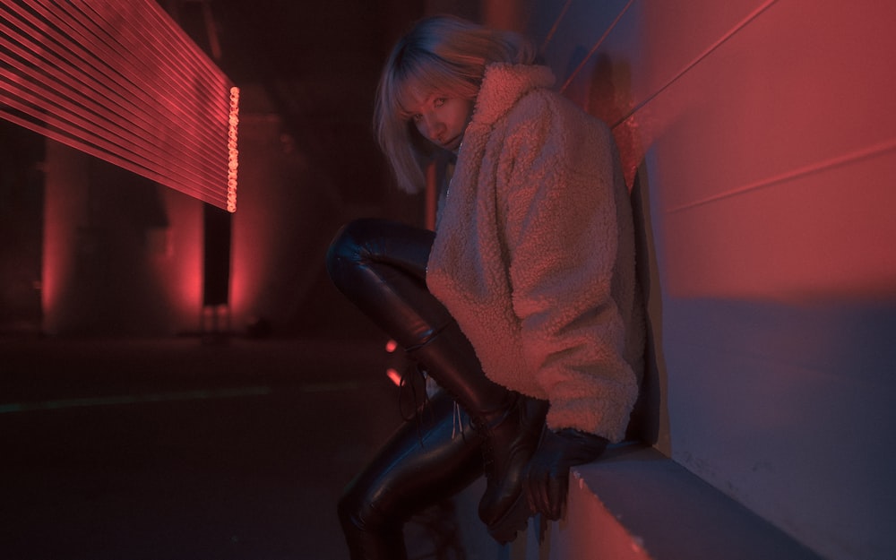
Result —
<path fill-rule="evenodd" d="M 0 338 L 0 558 L 347 558 L 337 497 L 400 421 L 382 342 Z"/>

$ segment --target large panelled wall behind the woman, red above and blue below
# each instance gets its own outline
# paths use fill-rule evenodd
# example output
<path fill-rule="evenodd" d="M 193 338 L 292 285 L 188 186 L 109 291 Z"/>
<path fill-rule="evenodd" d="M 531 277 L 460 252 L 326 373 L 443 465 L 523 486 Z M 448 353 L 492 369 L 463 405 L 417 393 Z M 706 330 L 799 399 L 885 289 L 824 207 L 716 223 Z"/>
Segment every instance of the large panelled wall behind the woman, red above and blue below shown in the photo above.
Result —
<path fill-rule="evenodd" d="M 896 8 L 519 4 L 643 198 L 659 449 L 825 558 L 896 556 Z"/>

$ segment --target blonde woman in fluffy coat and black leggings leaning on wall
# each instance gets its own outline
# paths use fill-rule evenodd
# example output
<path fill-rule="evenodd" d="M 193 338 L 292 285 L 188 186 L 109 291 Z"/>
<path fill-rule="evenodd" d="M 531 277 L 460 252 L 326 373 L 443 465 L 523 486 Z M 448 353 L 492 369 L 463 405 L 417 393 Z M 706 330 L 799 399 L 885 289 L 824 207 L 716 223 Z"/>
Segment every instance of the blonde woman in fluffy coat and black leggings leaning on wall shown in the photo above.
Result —
<path fill-rule="evenodd" d="M 399 185 L 445 154 L 451 182 L 435 232 L 352 222 L 328 269 L 443 391 L 340 500 L 352 558 L 406 557 L 404 521 L 483 473 L 479 517 L 513 540 L 625 434 L 644 337 L 628 193 L 607 126 L 553 82 L 519 36 L 448 16 L 385 65 L 375 129 Z"/>

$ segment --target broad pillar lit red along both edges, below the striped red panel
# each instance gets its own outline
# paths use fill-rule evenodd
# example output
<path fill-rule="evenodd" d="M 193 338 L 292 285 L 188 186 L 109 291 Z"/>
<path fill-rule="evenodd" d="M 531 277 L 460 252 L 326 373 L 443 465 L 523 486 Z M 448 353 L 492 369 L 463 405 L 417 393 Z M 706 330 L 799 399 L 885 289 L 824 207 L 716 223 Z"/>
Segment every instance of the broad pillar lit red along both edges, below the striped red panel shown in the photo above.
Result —
<path fill-rule="evenodd" d="M 47 141 L 43 331 L 159 336 L 202 309 L 202 202 Z"/>

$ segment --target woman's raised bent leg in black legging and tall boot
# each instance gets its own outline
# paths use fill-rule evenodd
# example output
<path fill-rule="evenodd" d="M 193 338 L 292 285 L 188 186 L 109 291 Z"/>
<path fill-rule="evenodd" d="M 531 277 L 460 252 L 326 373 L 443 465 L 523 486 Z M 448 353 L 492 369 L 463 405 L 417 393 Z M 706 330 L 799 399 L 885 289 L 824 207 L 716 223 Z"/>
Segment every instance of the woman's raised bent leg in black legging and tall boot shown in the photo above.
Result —
<path fill-rule="evenodd" d="M 470 341 L 426 289 L 434 238 L 431 231 L 395 222 L 356 220 L 333 240 L 327 270 L 336 287 L 452 395 L 471 423 L 475 418 L 487 450 L 479 517 L 496 540 L 507 542 L 530 517 L 522 474 L 538 446 L 547 403 L 508 391 L 483 373 Z M 398 470 L 402 462 L 382 467 Z"/>

